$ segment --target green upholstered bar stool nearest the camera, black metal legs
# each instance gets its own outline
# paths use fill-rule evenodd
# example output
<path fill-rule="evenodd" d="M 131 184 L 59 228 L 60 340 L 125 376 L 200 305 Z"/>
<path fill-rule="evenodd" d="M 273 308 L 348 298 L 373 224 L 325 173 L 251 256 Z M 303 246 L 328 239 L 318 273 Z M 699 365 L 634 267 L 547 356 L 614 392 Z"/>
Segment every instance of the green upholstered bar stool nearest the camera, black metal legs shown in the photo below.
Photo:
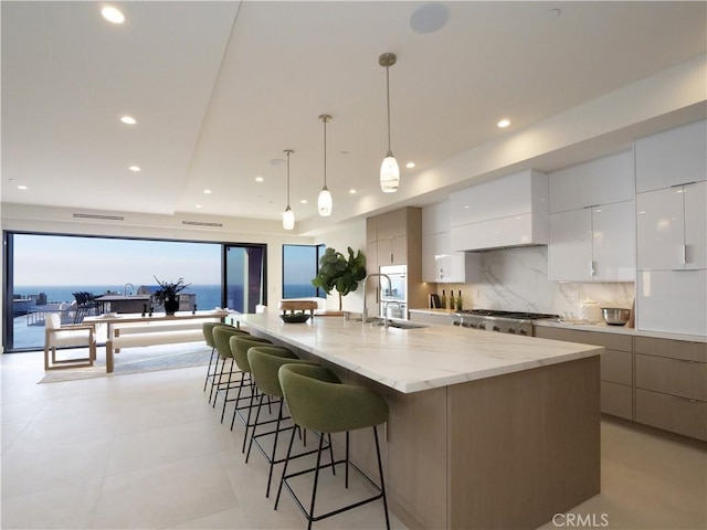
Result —
<path fill-rule="evenodd" d="M 386 498 L 386 486 L 383 483 L 383 467 L 380 460 L 380 446 L 378 443 L 377 425 L 388 421 L 388 403 L 362 386 L 344 384 L 336 374 L 324 367 L 313 367 L 306 364 L 283 364 L 278 372 L 279 384 L 283 389 L 285 402 L 292 414 L 292 418 L 296 425 L 318 433 L 346 433 L 346 458 L 342 460 L 331 462 L 330 464 L 321 464 L 321 451 L 324 448 L 324 436 L 319 437 L 319 448 L 317 452 L 317 464 L 312 469 L 305 469 L 296 473 L 287 474 L 287 465 L 292 454 L 292 445 L 295 432 L 293 431 L 287 449 L 287 458 L 283 468 L 283 476 L 277 489 L 277 498 L 275 499 L 275 509 L 279 501 L 279 495 L 283 486 L 287 488 L 293 499 L 307 518 L 307 528 L 312 528 L 314 521 L 325 519 L 327 517 L 341 513 L 359 506 L 372 502 L 378 499 L 383 501 L 383 510 L 386 512 L 386 528 L 390 529 L 390 519 L 388 517 L 388 500 Z M 371 480 L 363 471 L 349 462 L 349 431 L 358 428 L 372 427 L 373 438 L 376 441 L 376 454 L 378 456 L 378 473 L 380 476 L 380 486 Z M 315 500 L 317 497 L 317 483 L 319 479 L 319 469 L 324 467 L 334 467 L 338 464 L 345 464 L 346 478 L 345 485 L 348 488 L 349 467 L 358 471 L 378 494 L 367 499 L 344 506 L 336 510 L 315 516 Z M 304 507 L 302 501 L 295 495 L 293 488 L 287 483 L 288 479 L 314 471 L 314 486 L 312 488 L 312 501 L 309 510 Z"/>

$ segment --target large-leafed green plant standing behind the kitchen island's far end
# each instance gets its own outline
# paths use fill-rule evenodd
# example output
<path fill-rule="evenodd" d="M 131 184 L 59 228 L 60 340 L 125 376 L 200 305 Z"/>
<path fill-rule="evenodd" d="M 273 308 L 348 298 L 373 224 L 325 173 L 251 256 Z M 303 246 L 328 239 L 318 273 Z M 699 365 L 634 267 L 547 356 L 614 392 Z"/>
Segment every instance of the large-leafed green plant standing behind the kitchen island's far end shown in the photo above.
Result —
<path fill-rule="evenodd" d="M 319 258 L 319 273 L 312 280 L 312 285 L 319 287 L 327 295 L 336 289 L 339 294 L 339 311 L 341 310 L 341 298 L 358 288 L 358 283 L 366 277 L 366 256 L 358 251 L 354 255 L 351 247 L 348 247 L 348 259 L 344 254 L 334 248 L 327 247 Z"/>

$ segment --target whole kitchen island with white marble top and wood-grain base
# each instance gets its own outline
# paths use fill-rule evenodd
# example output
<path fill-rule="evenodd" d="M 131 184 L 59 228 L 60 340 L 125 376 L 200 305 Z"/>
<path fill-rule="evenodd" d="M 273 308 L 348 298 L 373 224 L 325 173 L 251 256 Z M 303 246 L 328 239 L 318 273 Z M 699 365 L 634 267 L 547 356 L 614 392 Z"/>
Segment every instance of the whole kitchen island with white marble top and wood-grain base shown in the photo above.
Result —
<path fill-rule="evenodd" d="M 603 348 L 430 326 L 233 315 L 390 406 L 391 511 L 409 528 L 537 528 L 600 489 Z M 371 441 L 352 458 L 372 469 Z"/>

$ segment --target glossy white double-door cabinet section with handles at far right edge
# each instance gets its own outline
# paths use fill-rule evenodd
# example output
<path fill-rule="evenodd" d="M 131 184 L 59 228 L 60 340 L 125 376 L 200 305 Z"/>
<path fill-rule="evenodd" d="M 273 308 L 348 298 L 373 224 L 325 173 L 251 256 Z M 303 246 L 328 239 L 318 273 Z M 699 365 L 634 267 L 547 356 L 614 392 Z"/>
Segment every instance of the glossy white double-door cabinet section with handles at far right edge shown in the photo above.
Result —
<path fill-rule="evenodd" d="M 636 195 L 640 271 L 707 268 L 707 182 Z"/>

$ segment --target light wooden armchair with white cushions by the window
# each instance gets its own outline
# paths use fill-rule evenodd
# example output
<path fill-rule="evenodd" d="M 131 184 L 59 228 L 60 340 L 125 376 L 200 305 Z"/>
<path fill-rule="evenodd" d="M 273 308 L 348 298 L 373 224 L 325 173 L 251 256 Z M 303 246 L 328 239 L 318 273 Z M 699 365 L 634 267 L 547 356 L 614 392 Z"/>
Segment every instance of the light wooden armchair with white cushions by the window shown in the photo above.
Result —
<path fill-rule="evenodd" d="M 88 357 L 57 359 L 56 349 L 63 347 L 86 347 Z M 50 361 L 50 350 L 52 350 Z M 96 329 L 88 324 L 62 326 L 59 312 L 50 312 L 44 318 L 44 370 L 62 368 L 93 367 L 96 359 Z"/>

